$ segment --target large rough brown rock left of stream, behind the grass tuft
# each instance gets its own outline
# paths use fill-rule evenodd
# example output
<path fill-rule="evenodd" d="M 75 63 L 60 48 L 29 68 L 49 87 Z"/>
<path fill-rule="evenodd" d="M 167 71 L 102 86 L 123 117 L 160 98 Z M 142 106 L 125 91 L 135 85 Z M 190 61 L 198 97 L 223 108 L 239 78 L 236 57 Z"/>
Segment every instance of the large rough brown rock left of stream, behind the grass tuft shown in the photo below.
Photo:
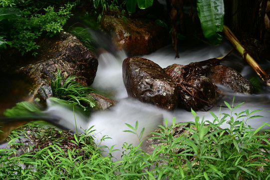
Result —
<path fill-rule="evenodd" d="M 31 63 L 18 69 L 32 79 L 34 85 L 31 92 L 35 98 L 44 102 L 51 96 L 51 78 L 55 77 L 57 68 L 66 77 L 71 74 L 85 77 L 78 79 L 84 85 L 93 82 L 98 66 L 97 58 L 74 35 L 61 31 L 57 37 L 39 39 L 38 45 L 37 57 L 27 59 Z"/>

